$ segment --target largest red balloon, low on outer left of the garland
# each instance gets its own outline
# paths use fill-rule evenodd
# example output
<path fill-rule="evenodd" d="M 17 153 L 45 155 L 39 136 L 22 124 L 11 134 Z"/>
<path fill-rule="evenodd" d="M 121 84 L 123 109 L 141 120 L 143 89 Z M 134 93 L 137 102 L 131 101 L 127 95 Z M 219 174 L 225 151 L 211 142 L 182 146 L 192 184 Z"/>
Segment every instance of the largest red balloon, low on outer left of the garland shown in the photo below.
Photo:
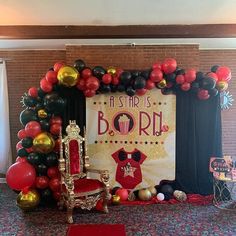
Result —
<path fill-rule="evenodd" d="M 27 161 L 16 162 L 9 167 L 6 173 L 6 181 L 11 189 L 21 191 L 34 184 L 36 172 Z"/>

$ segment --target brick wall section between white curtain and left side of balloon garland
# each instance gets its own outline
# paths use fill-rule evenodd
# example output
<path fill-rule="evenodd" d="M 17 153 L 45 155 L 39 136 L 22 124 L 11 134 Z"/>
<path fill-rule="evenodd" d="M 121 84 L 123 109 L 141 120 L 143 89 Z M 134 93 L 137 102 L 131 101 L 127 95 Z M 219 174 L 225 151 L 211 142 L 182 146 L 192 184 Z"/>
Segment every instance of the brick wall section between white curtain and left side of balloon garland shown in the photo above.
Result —
<path fill-rule="evenodd" d="M 65 61 L 64 50 L 0 51 L 0 58 L 7 61 L 10 129 L 13 161 L 16 158 L 17 132 L 22 128 L 19 115 L 23 110 L 21 96 L 30 87 L 39 87 L 39 81 L 56 61 Z"/>

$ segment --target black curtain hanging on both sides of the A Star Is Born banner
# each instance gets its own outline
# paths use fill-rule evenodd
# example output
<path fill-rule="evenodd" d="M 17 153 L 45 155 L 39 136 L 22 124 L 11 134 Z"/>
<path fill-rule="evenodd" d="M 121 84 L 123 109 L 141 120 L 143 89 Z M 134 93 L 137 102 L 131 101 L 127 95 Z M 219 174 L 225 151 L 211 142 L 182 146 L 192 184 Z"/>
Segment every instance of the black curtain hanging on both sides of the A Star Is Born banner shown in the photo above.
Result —
<path fill-rule="evenodd" d="M 77 88 L 63 87 L 59 94 L 67 101 L 63 114 L 63 130 L 69 120 L 74 119 L 83 133 L 86 124 L 83 93 Z M 208 168 L 212 156 L 222 156 L 219 95 L 202 101 L 191 93 L 178 91 L 175 188 L 186 193 L 212 194 L 212 174 Z"/>

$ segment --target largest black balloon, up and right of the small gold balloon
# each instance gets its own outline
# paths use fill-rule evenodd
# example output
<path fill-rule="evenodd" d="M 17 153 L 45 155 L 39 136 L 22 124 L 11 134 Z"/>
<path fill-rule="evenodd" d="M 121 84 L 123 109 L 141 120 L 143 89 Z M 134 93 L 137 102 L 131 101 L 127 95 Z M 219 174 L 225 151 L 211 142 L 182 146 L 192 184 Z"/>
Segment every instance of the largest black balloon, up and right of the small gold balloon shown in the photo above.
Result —
<path fill-rule="evenodd" d="M 52 92 L 44 97 L 44 106 L 48 111 L 60 114 L 65 108 L 65 101 L 56 92 Z"/>

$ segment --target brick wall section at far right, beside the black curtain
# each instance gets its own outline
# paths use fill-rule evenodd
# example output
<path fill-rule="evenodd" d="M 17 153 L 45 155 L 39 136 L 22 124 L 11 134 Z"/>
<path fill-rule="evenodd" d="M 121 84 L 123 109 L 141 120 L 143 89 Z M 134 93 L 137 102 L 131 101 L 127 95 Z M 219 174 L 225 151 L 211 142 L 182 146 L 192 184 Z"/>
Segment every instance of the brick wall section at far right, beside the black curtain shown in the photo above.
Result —
<path fill-rule="evenodd" d="M 208 72 L 212 65 L 225 65 L 231 69 L 232 79 L 228 91 L 236 99 L 236 50 L 201 50 L 200 69 Z M 229 110 L 222 111 L 223 153 L 236 156 L 236 101 Z"/>

